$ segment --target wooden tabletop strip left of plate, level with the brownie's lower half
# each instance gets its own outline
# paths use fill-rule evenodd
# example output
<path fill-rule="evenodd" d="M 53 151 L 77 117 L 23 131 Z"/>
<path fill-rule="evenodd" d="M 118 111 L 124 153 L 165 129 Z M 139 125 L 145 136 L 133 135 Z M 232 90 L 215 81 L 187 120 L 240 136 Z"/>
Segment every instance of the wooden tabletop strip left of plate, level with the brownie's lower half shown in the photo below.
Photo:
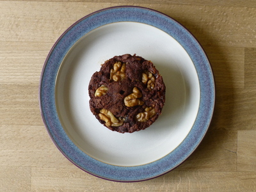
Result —
<path fill-rule="evenodd" d="M 35 81 L 39 83 L 38 78 Z M 0 84 L 0 88 L 0 124 L 42 125 L 38 84 Z"/>

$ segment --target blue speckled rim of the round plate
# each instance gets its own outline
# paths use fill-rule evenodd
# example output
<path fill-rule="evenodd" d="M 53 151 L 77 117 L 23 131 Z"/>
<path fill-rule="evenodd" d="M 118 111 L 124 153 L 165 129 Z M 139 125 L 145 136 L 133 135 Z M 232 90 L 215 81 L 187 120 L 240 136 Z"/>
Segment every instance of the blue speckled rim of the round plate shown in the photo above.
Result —
<path fill-rule="evenodd" d="M 102 163 L 84 154 L 68 138 L 61 126 L 55 104 L 55 82 L 63 58 L 70 48 L 86 33 L 113 22 L 141 22 L 159 28 L 175 38 L 188 52 L 193 61 L 200 83 L 200 105 L 195 124 L 188 136 L 173 152 L 152 163 L 140 166 L 114 166 Z M 170 172 L 183 163 L 198 147 L 211 123 L 215 103 L 215 85 L 212 68 L 207 56 L 196 41 L 179 22 L 156 10 L 139 6 L 115 6 L 91 13 L 78 20 L 58 38 L 49 52 L 39 86 L 39 102 L 42 118 L 52 138 L 67 159 L 77 167 L 102 179 L 119 182 L 136 182 L 153 179 Z"/>

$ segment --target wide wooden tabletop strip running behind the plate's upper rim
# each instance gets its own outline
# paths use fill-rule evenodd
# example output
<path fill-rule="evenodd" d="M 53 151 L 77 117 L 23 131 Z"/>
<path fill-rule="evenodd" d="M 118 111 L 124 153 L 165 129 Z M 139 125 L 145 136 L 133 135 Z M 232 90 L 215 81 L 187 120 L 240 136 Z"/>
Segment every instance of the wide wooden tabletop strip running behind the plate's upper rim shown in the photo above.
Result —
<path fill-rule="evenodd" d="M 0 18 L 0 33 L 3 34 L 0 41 L 49 42 L 55 41 L 65 29 L 84 15 L 124 3 L 0 1 L 0 5 L 4 16 Z M 254 47 L 256 43 L 255 8 L 179 4 L 133 5 L 154 7 L 170 15 L 186 26 L 203 45 Z M 10 31 L 6 33 L 4 28 Z"/>

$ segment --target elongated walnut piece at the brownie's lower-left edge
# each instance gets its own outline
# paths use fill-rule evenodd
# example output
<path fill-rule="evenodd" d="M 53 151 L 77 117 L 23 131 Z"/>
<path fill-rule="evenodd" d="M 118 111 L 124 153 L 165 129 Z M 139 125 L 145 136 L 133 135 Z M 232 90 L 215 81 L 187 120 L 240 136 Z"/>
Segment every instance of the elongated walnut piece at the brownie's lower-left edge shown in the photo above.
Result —
<path fill-rule="evenodd" d="M 119 117 L 118 119 L 108 111 L 107 109 L 100 109 L 99 117 L 101 120 L 104 120 L 105 125 L 107 127 L 113 126 L 113 127 L 118 127 L 122 124 L 124 124 L 124 118 Z"/>

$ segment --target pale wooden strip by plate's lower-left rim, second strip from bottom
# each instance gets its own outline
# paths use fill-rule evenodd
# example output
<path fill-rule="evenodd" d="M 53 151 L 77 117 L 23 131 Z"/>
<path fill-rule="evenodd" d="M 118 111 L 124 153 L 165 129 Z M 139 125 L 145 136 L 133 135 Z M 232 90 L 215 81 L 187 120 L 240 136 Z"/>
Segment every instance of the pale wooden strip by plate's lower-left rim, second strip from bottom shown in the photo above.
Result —
<path fill-rule="evenodd" d="M 1 166 L 70 168 L 44 125 L 0 125 Z"/>

